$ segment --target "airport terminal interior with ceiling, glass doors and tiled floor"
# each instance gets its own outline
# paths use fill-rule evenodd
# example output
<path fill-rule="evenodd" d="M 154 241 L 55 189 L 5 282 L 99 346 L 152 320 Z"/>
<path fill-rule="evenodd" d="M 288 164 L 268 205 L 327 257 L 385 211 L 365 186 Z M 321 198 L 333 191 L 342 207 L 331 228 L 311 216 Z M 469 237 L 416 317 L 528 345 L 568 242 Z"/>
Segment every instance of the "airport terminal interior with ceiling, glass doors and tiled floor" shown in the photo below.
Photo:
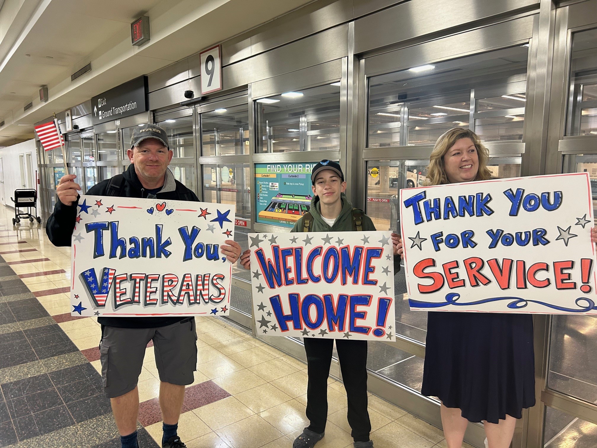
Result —
<path fill-rule="evenodd" d="M 71 315 L 71 249 L 44 226 L 66 170 L 82 194 L 126 170 L 138 126 L 166 130 L 169 168 L 199 200 L 235 206 L 243 250 L 248 234 L 288 232 L 309 211 L 322 159 L 338 161 L 378 230 L 398 231 L 400 191 L 424 185 L 453 127 L 481 137 L 494 177 L 586 172 L 597 205 L 597 0 L 81 3 L 0 0 L 0 447 L 120 446 L 100 326 Z M 66 160 L 34 131 L 54 113 Z M 14 219 L 16 189 L 36 190 L 31 219 Z M 236 263 L 232 276 L 229 316 L 197 318 L 179 435 L 290 447 L 307 424 L 303 341 L 256 333 L 250 271 Z M 394 290 L 396 340 L 368 345 L 371 440 L 447 447 L 439 401 L 421 394 L 426 312 L 411 311 L 404 270 Z M 533 321 L 537 404 L 512 448 L 597 447 L 595 315 Z M 161 446 L 156 377 L 148 346 L 143 447 Z M 336 351 L 328 400 L 317 446 L 350 447 Z M 470 424 L 464 446 L 484 438 Z"/>

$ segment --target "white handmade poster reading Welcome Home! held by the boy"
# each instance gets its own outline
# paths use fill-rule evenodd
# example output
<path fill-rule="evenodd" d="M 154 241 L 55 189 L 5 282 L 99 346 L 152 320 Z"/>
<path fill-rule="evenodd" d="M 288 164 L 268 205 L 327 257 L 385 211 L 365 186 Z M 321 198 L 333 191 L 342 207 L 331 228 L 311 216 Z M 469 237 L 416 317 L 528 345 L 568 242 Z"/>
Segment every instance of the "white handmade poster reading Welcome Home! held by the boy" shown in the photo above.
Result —
<path fill-rule="evenodd" d="M 249 234 L 257 333 L 395 340 L 391 235 Z"/>

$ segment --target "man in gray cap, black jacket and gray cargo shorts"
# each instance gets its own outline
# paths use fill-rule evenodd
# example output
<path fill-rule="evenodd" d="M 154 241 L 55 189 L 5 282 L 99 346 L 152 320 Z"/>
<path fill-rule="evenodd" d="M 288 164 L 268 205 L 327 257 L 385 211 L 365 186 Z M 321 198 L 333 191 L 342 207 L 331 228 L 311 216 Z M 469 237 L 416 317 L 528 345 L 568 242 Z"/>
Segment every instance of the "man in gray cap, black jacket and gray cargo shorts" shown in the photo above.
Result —
<path fill-rule="evenodd" d="M 168 136 L 155 124 L 144 124 L 133 131 L 131 164 L 122 174 L 103 180 L 89 189 L 95 196 L 155 198 L 158 200 L 198 201 L 196 195 L 174 179 L 168 170 L 172 151 Z M 75 228 L 76 204 L 81 187 L 75 174 L 60 179 L 56 188 L 58 201 L 46 225 L 54 246 L 70 246 Z M 241 246 L 227 240 L 221 252 L 236 262 Z M 196 370 L 196 330 L 194 317 L 99 317 L 101 324 L 100 359 L 104 391 L 110 397 L 112 411 L 121 435 L 122 448 L 137 448 L 139 391 L 137 381 L 143 366 L 145 348 L 153 340 L 159 379 L 159 404 L 164 435 L 162 447 L 183 448 L 177 435 L 184 386 L 193 382 Z"/>

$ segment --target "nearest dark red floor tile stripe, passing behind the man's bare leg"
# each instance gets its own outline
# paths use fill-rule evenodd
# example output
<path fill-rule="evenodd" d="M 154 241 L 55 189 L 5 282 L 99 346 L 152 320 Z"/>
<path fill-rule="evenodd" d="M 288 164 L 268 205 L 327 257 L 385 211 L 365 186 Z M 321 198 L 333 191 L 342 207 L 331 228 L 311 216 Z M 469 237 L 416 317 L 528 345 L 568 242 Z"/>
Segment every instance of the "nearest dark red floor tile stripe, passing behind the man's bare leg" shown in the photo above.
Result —
<path fill-rule="evenodd" d="M 230 397 L 230 394 L 213 381 L 205 381 L 187 387 L 184 389 L 182 412 L 215 403 L 226 397 Z M 143 426 L 153 425 L 162 421 L 162 412 L 159 410 L 159 398 L 152 398 L 139 404 L 139 421 Z"/>

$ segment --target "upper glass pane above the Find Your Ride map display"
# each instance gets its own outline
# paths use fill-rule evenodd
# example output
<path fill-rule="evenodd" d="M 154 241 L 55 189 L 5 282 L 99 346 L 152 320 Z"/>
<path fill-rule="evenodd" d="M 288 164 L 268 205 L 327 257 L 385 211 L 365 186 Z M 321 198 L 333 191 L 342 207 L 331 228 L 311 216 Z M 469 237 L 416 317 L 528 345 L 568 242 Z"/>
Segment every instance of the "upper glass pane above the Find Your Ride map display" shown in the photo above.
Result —
<path fill-rule="evenodd" d="M 340 149 L 340 84 L 256 100 L 257 152 Z"/>

